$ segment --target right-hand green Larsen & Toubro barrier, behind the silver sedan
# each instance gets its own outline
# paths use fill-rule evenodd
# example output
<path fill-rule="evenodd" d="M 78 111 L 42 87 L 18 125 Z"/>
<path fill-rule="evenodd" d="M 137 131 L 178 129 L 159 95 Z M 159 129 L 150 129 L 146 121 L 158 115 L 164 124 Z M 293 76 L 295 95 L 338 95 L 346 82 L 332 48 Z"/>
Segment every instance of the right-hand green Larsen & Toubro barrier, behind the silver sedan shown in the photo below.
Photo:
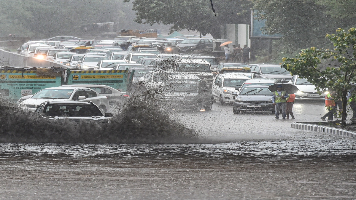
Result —
<path fill-rule="evenodd" d="M 120 91 L 127 91 L 132 75 L 127 70 L 70 70 L 67 69 L 67 85 L 107 85 Z"/>

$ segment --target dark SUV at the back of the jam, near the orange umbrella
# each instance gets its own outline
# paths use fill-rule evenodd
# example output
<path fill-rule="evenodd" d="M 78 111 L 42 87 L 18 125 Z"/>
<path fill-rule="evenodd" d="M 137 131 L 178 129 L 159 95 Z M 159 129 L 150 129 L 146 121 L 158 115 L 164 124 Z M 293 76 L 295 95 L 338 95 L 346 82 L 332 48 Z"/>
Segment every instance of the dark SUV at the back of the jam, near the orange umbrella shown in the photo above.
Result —
<path fill-rule="evenodd" d="M 177 44 L 181 53 L 192 52 L 195 49 L 213 49 L 213 40 L 207 38 L 187 38 Z"/>

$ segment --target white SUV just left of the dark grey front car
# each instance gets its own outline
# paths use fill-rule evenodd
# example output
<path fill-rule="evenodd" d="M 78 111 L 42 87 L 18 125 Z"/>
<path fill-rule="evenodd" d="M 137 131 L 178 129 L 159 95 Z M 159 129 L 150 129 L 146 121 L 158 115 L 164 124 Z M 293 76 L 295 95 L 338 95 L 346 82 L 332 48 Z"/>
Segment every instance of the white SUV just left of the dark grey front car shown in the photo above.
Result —
<path fill-rule="evenodd" d="M 239 94 L 242 84 L 248 79 L 250 78 L 241 74 L 218 74 L 211 87 L 211 93 L 221 105 L 226 102 L 232 103 Z"/>

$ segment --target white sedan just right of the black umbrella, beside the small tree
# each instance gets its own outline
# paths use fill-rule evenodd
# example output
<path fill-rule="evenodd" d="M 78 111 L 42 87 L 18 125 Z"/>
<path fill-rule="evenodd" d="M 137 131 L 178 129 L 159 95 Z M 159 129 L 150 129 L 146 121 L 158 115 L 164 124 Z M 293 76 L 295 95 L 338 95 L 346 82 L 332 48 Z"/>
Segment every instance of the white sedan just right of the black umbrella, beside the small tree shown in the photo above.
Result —
<path fill-rule="evenodd" d="M 324 92 L 323 94 L 319 94 L 318 91 L 315 89 L 315 86 L 310 83 L 305 78 L 299 78 L 298 75 L 295 75 L 290 79 L 288 82 L 289 84 L 295 85 L 298 88 L 298 92 L 295 93 L 295 99 L 320 99 L 324 100 L 325 95 L 328 92 Z"/>

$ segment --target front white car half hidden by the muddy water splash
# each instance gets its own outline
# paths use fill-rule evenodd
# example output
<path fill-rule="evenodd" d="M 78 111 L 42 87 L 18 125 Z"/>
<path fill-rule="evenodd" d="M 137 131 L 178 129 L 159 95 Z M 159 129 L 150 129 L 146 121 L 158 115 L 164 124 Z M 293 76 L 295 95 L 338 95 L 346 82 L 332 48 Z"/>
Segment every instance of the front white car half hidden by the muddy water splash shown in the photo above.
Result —
<path fill-rule="evenodd" d="M 111 113 L 103 115 L 93 102 L 64 102 L 64 101 L 45 101 L 40 104 L 36 111 L 44 118 L 51 120 L 70 120 L 70 121 L 95 121 L 98 123 L 110 122 L 107 117 L 112 117 Z"/>

